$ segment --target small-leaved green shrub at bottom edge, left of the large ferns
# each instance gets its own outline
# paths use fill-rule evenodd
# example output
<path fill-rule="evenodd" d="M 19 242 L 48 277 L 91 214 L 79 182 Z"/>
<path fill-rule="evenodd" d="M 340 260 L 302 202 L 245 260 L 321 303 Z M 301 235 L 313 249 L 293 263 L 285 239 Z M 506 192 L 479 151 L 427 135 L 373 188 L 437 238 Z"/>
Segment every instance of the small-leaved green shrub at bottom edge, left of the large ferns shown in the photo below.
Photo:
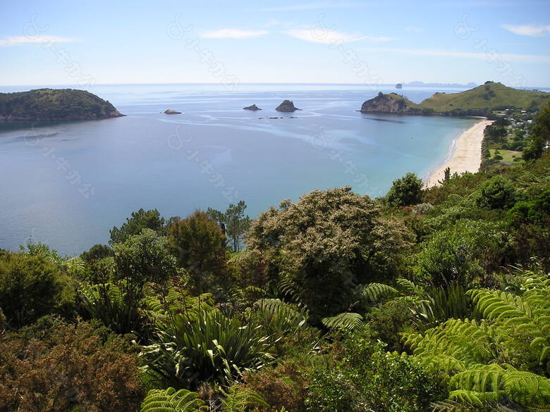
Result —
<path fill-rule="evenodd" d="M 336 366 L 312 375 L 308 411 L 421 412 L 441 397 L 436 379 L 414 358 L 353 337 Z"/>

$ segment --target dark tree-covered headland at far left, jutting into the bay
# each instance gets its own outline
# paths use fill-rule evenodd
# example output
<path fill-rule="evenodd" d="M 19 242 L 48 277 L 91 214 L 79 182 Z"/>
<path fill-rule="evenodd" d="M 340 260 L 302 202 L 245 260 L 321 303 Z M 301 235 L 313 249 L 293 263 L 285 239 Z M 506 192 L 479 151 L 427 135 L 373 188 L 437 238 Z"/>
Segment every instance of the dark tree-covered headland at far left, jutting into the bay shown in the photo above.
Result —
<path fill-rule="evenodd" d="M 85 90 L 36 89 L 0 93 L 0 121 L 95 120 L 123 116 Z"/>

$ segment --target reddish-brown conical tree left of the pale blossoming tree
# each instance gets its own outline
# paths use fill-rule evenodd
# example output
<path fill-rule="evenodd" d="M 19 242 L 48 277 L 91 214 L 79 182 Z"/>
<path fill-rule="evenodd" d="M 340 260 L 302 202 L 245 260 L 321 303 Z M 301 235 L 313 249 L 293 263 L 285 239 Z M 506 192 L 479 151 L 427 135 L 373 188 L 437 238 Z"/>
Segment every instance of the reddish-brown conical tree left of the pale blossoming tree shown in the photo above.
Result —
<path fill-rule="evenodd" d="M 209 277 L 220 281 L 226 275 L 227 239 L 206 213 L 195 211 L 184 220 L 174 220 L 168 236 L 172 254 L 195 286 L 204 289 Z"/>

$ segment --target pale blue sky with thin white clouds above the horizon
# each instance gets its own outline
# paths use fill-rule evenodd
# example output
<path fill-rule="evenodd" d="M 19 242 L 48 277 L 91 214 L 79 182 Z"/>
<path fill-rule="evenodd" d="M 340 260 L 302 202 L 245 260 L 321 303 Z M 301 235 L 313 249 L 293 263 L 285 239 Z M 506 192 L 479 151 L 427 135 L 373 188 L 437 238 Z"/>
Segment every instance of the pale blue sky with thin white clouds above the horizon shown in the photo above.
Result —
<path fill-rule="evenodd" d="M 0 85 L 550 87 L 550 0 L 0 0 Z"/>

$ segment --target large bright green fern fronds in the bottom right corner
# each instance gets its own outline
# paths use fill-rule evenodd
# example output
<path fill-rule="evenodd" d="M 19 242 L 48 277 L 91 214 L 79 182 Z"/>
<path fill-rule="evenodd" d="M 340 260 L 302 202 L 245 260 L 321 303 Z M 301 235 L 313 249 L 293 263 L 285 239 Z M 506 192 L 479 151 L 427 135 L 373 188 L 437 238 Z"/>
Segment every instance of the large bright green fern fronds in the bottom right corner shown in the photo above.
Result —
<path fill-rule="evenodd" d="M 520 293 L 472 289 L 477 320 L 451 319 L 405 342 L 448 385 L 441 411 L 550 404 L 550 278 L 527 272 Z M 513 405 L 517 405 L 516 409 Z"/>

